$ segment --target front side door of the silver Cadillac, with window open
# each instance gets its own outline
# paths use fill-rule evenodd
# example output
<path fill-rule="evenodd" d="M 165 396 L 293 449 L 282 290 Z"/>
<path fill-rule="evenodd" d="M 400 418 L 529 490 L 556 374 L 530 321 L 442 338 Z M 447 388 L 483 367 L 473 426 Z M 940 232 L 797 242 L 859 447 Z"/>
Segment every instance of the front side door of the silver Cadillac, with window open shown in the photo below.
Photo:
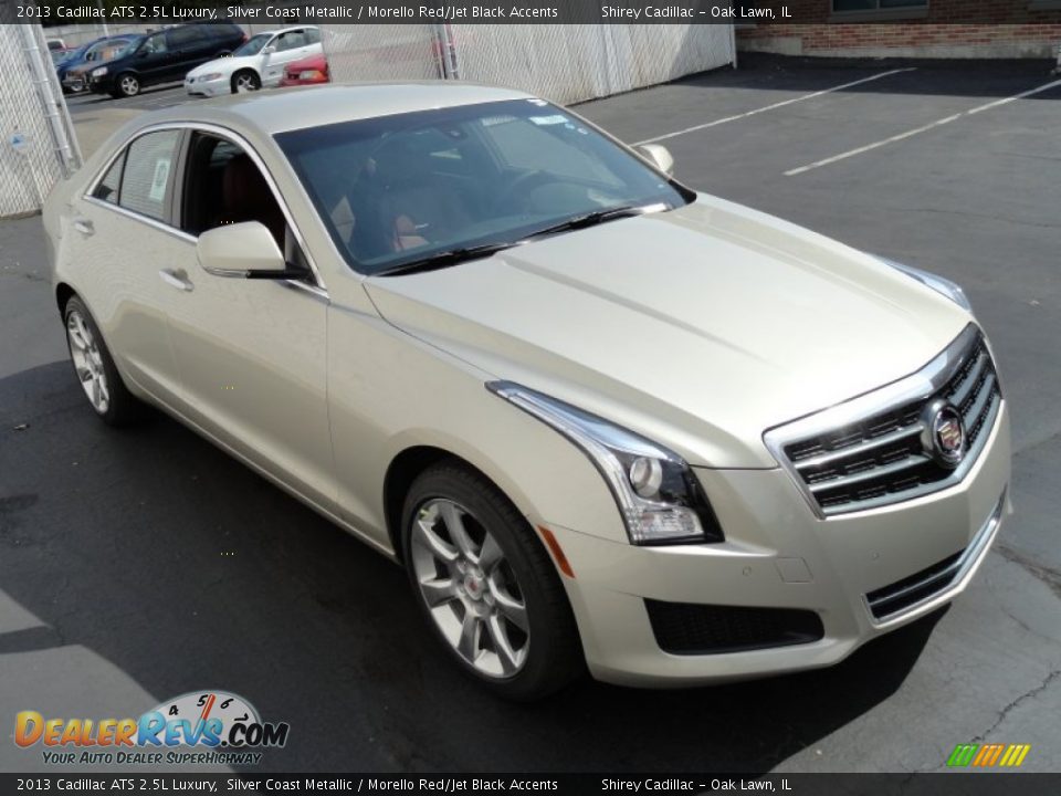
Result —
<path fill-rule="evenodd" d="M 180 410 L 252 464 L 330 506 L 336 489 L 326 404 L 326 294 L 312 282 L 216 276 L 197 263 L 198 235 L 238 211 L 230 193 L 260 200 L 272 190 L 264 179 L 261 186 L 229 185 L 225 169 L 234 158 L 252 158 L 261 174 L 252 155 L 242 142 L 213 133 L 189 139 L 178 199 L 188 266 L 167 304 L 185 390 Z M 283 216 L 277 218 L 283 228 Z"/>

